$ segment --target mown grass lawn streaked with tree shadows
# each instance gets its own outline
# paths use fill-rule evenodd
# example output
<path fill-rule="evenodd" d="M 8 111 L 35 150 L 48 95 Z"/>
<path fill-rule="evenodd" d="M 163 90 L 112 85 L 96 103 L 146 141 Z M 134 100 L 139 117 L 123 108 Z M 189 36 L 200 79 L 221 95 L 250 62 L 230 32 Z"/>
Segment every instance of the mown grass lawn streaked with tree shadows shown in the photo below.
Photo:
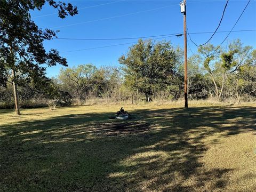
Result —
<path fill-rule="evenodd" d="M 1 191 L 255 191 L 256 105 L 1 111 Z"/>

